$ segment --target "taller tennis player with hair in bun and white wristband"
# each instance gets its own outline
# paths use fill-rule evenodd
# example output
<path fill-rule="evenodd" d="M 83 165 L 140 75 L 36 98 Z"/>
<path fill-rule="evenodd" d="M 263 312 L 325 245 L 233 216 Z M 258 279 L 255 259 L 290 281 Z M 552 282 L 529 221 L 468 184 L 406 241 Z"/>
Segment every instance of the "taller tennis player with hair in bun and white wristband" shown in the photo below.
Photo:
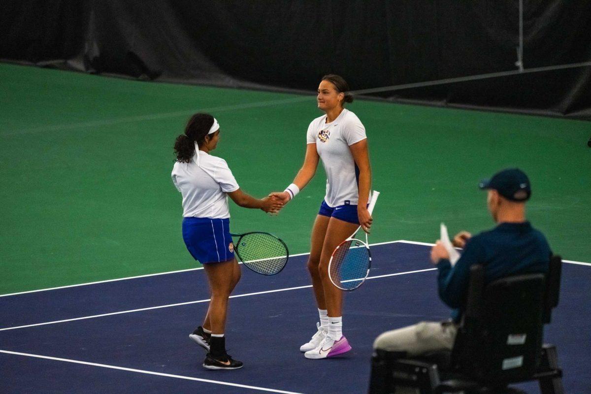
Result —
<path fill-rule="evenodd" d="M 304 164 L 285 191 L 271 194 L 283 203 L 293 200 L 314 177 L 322 159 L 327 175 L 326 196 L 312 228 L 308 260 L 320 323 L 316 334 L 300 347 L 308 359 L 338 356 L 351 349 L 342 332 L 343 294 L 330 282 L 328 265 L 339 243 L 360 224 L 369 232 L 372 223 L 367 210 L 371 187 L 367 138 L 359 118 L 343 106 L 353 101 L 348 90 L 340 76 L 329 74 L 322 78 L 317 103 L 325 114 L 308 127 Z"/>

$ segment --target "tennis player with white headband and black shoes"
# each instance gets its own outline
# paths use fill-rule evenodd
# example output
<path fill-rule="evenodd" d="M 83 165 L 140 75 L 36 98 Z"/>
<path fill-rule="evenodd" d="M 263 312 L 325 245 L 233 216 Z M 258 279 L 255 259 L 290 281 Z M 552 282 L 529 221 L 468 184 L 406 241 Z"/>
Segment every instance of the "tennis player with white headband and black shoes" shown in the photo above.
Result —
<path fill-rule="evenodd" d="M 203 264 L 211 299 L 203 326 L 190 338 L 208 351 L 207 369 L 238 369 L 242 363 L 226 353 L 224 330 L 230 293 L 240 280 L 230 236 L 228 196 L 241 207 L 276 213 L 282 203 L 258 200 L 238 187 L 226 161 L 209 154 L 219 142 L 220 126 L 213 116 L 191 116 L 184 134 L 177 137 L 173 183 L 183 195 L 183 240 L 194 259 Z"/>

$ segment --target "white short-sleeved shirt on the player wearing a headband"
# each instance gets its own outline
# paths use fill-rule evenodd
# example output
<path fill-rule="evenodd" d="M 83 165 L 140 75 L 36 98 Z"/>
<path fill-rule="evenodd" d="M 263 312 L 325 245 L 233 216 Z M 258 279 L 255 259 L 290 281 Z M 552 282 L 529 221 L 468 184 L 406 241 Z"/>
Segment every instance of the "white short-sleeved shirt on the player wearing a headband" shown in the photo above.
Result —
<path fill-rule="evenodd" d="M 196 148 L 190 162 L 174 163 L 171 176 L 174 186 L 183 194 L 183 217 L 230 217 L 226 193 L 238 190 L 239 186 L 224 159 Z"/>

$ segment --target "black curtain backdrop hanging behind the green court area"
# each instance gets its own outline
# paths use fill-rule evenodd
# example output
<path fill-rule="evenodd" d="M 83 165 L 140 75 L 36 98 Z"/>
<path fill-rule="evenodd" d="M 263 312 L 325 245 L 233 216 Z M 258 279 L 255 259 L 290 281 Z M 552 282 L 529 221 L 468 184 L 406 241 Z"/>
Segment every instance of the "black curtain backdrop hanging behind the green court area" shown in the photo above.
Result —
<path fill-rule="evenodd" d="M 523 65 L 591 61 L 591 1 L 524 0 Z M 519 1 L 4 0 L 3 61 L 142 80 L 314 91 L 516 71 Z M 398 102 L 591 120 L 591 67 L 388 90 Z"/>

